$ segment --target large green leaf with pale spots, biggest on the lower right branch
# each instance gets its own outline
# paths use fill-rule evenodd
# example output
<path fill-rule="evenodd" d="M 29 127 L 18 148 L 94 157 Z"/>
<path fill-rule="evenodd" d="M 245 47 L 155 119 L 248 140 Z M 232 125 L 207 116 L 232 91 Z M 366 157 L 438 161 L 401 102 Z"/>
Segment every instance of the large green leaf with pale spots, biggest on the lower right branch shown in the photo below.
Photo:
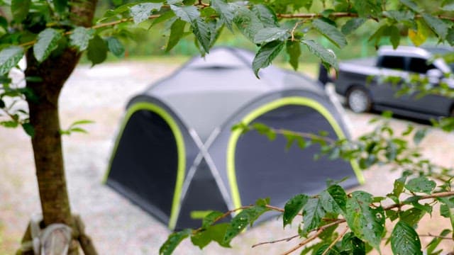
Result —
<path fill-rule="evenodd" d="M 381 206 L 371 208 L 371 202 L 372 195 L 369 193 L 354 191 L 347 200 L 345 220 L 356 237 L 380 251 L 380 242 L 385 231 L 384 210 Z"/>

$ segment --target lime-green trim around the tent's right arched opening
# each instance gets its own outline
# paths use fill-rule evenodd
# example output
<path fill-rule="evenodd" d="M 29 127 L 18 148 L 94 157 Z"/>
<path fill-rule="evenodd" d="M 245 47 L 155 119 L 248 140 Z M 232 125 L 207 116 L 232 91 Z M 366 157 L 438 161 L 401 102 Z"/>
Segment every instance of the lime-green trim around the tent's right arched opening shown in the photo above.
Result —
<path fill-rule="evenodd" d="M 328 120 L 328 123 L 333 127 L 334 132 L 336 135 L 343 139 L 345 138 L 345 134 L 341 129 L 341 126 L 338 125 L 336 119 L 331 115 L 331 113 L 321 105 L 321 103 L 315 101 L 311 98 L 305 98 L 301 96 L 292 96 L 287 98 L 277 99 L 270 103 L 267 103 L 259 108 L 256 108 L 254 111 L 251 111 L 248 115 L 246 115 L 241 123 L 245 125 L 249 125 L 255 118 L 258 118 L 260 115 L 263 115 L 269 111 L 275 110 L 276 108 L 288 105 L 297 105 L 297 106 L 307 106 L 313 108 L 314 110 L 318 111 L 323 117 Z M 240 208 L 241 207 L 241 198 L 240 192 L 238 190 L 238 184 L 236 181 L 236 170 L 235 170 L 235 152 L 236 152 L 236 144 L 238 139 L 240 138 L 241 130 L 234 130 L 230 139 L 228 140 L 228 147 L 227 147 L 227 176 L 228 182 L 231 188 L 231 197 L 233 202 L 233 208 Z M 351 160 L 350 164 L 352 166 L 353 171 L 355 172 L 356 178 L 358 179 L 359 183 L 364 183 L 364 176 L 362 176 L 362 172 L 360 171 L 360 167 L 358 162 L 355 160 Z"/>

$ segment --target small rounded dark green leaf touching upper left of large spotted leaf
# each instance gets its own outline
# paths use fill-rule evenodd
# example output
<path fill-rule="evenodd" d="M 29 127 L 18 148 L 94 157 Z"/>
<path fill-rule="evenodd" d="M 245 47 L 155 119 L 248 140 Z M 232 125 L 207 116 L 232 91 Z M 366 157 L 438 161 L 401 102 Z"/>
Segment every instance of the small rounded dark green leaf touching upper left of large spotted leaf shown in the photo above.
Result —
<path fill-rule="evenodd" d="M 326 212 L 336 212 L 345 215 L 347 194 L 341 186 L 333 185 L 320 193 L 320 200 Z"/>

